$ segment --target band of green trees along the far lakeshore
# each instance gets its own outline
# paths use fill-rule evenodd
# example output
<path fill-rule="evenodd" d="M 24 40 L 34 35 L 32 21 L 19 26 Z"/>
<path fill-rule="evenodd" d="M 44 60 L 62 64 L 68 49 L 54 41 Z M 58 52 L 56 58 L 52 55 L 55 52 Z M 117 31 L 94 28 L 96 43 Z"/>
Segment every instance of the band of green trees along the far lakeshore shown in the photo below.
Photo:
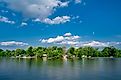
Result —
<path fill-rule="evenodd" d="M 16 56 L 26 56 L 26 57 L 37 57 L 42 58 L 43 55 L 47 55 L 48 58 L 63 58 L 67 55 L 68 58 L 82 58 L 83 55 L 89 57 L 121 57 L 121 50 L 113 46 L 105 47 L 100 50 L 99 48 L 93 47 L 28 47 L 24 49 L 15 50 L 2 50 L 0 49 L 0 57 L 16 57 Z"/>

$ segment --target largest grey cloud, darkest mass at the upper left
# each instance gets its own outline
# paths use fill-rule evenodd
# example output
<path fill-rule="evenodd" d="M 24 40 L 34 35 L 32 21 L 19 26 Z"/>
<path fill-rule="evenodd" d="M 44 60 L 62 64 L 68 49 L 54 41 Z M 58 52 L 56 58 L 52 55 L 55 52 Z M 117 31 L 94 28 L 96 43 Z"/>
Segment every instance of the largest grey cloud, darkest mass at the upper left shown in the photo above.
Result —
<path fill-rule="evenodd" d="M 56 8 L 66 7 L 69 2 L 60 0 L 0 0 L 7 4 L 7 8 L 21 12 L 28 18 L 45 19 L 52 15 Z"/>

